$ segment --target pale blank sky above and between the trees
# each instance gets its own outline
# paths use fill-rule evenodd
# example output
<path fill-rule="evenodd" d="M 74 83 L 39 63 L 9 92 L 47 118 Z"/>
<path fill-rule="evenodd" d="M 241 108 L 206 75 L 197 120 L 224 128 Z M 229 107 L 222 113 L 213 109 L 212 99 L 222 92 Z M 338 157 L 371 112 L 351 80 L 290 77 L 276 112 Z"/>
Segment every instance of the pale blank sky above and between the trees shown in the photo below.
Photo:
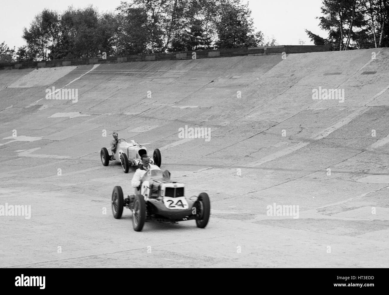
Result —
<path fill-rule="evenodd" d="M 314 45 L 309 40 L 305 29 L 324 38 L 327 33 L 319 28 L 322 0 L 243 0 L 249 3 L 256 31 L 262 31 L 267 38 L 275 37 L 279 45 Z M 100 12 L 114 11 L 120 0 L 9 0 L 2 3 L 0 17 L 0 43 L 16 48 L 25 45 L 22 38 L 23 28 L 28 28 L 35 15 L 48 8 L 59 12 L 73 5 L 83 8 L 93 4 Z"/>

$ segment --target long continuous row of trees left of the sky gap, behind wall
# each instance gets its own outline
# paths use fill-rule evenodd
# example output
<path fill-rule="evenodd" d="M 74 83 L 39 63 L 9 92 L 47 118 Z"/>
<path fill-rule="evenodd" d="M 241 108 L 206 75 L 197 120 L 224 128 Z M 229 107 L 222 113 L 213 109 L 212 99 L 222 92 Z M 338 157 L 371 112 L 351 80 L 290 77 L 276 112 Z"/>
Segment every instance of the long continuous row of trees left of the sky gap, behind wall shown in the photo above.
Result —
<path fill-rule="evenodd" d="M 17 50 L 0 45 L 3 62 L 277 44 L 255 32 L 241 0 L 132 0 L 102 13 L 93 6 L 44 9 L 23 29 L 23 39 Z"/>

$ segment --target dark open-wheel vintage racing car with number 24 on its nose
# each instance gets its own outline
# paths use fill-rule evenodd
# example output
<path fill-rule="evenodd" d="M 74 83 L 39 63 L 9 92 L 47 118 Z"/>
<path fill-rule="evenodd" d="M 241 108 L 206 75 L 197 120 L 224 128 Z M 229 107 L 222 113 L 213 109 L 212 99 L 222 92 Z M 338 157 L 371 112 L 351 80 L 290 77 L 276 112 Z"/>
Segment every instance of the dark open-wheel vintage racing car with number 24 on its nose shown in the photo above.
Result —
<path fill-rule="evenodd" d="M 198 228 L 207 226 L 210 200 L 207 193 L 186 198 L 184 184 L 170 180 L 169 171 L 150 170 L 140 183 L 140 195 L 123 198 L 121 186 L 112 191 L 112 214 L 121 218 L 123 208 L 132 211 L 132 225 L 141 231 L 145 221 L 173 222 L 195 219 Z"/>

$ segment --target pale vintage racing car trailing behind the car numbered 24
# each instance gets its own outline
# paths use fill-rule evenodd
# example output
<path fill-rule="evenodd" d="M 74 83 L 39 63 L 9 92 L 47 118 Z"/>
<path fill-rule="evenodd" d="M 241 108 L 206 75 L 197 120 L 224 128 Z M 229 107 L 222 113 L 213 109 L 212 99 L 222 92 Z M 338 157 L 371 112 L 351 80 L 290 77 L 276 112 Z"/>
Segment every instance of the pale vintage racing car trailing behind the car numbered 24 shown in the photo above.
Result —
<path fill-rule="evenodd" d="M 117 146 L 114 155 L 109 155 L 107 148 L 102 148 L 100 151 L 101 162 L 104 166 L 108 166 L 109 161 L 117 160 L 121 162 L 124 173 L 128 173 L 130 166 L 137 167 L 142 165 L 142 155 L 147 155 L 147 149 L 143 145 L 131 140 L 127 142 L 120 138 L 117 140 Z M 153 157 L 150 157 L 151 163 L 161 167 L 161 152 L 156 148 Z"/>

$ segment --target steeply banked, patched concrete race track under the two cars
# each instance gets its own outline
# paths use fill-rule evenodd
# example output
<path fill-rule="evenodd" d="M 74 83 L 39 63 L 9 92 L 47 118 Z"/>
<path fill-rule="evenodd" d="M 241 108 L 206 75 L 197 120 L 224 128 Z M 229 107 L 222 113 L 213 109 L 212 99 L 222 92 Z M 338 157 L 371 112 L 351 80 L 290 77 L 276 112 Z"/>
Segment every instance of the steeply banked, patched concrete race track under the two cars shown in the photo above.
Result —
<path fill-rule="evenodd" d="M 388 48 L 1 71 L 0 205 L 31 218 L 0 216 L 0 267 L 387 267 L 388 88 Z M 100 162 L 114 130 L 209 193 L 207 228 L 112 217 L 134 172 Z"/>

